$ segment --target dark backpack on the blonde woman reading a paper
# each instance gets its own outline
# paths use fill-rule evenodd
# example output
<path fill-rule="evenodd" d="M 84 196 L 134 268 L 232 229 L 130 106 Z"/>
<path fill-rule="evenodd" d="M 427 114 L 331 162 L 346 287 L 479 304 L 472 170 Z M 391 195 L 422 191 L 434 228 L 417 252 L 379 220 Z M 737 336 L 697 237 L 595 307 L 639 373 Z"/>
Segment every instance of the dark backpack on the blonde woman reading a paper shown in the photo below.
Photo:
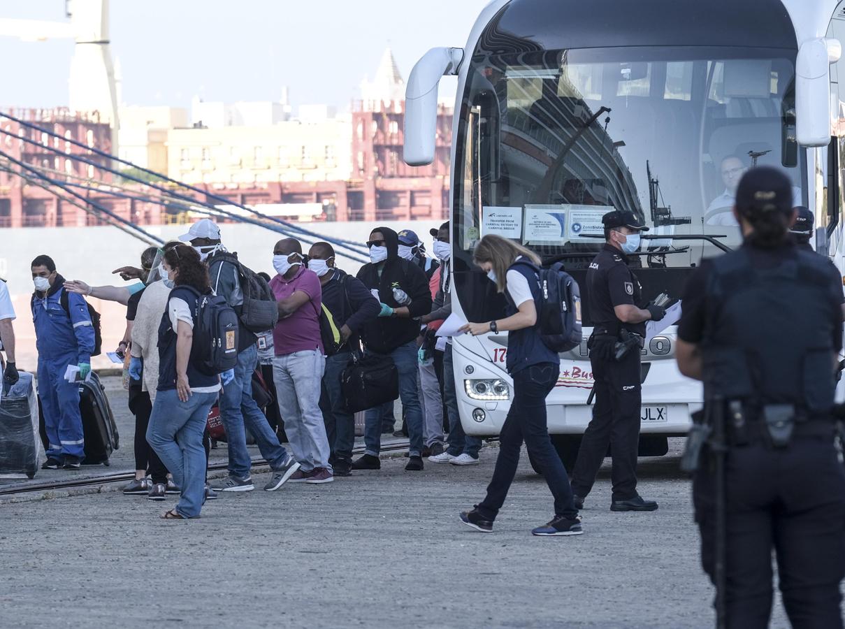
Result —
<path fill-rule="evenodd" d="M 515 264 L 526 265 L 540 282 L 541 303 L 537 309 L 537 331 L 542 342 L 553 352 L 569 352 L 581 344 L 581 288 L 564 264 L 556 262 L 542 269 L 526 260 Z"/>

